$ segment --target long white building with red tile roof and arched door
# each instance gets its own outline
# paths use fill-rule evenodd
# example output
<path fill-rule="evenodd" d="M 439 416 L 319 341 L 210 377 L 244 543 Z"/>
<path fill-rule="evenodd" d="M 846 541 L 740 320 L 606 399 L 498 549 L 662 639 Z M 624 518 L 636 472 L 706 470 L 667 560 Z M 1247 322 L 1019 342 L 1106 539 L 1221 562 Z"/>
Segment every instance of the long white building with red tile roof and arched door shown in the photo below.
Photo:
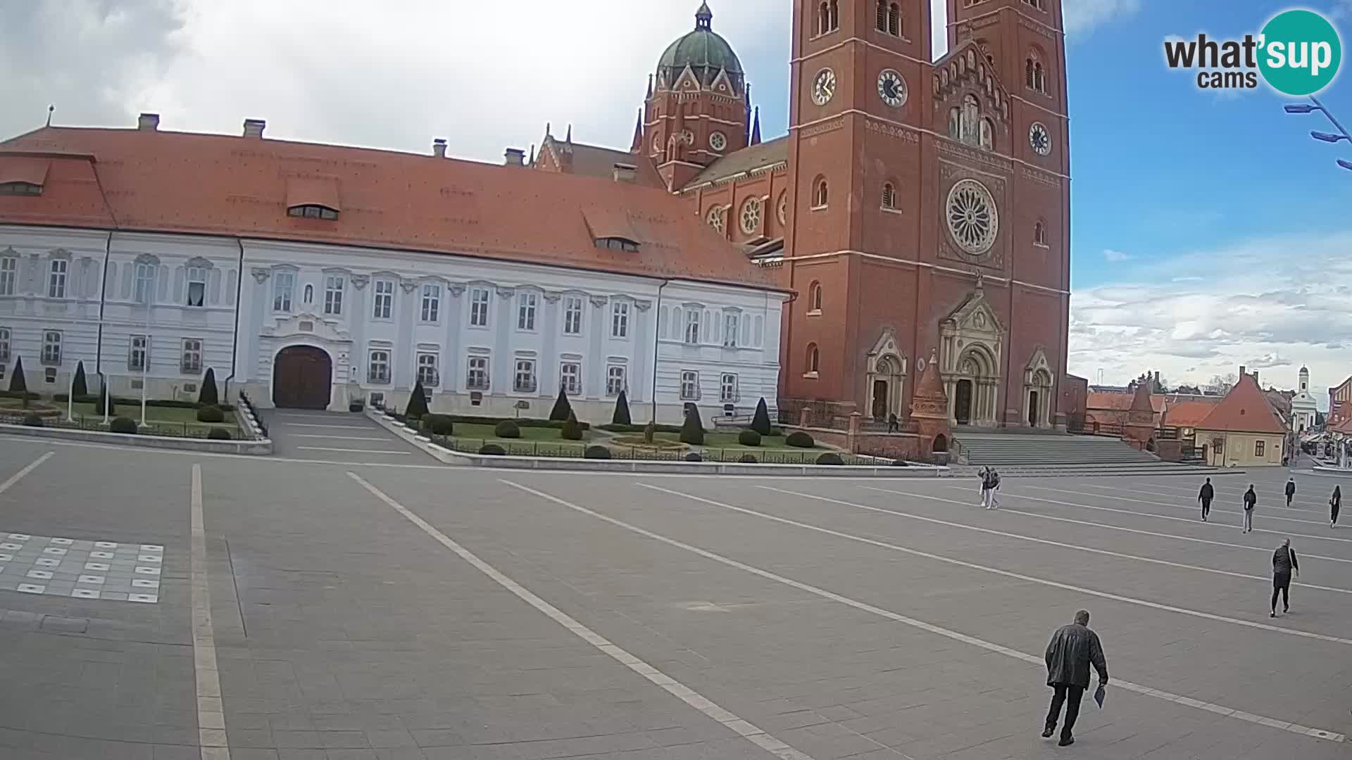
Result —
<path fill-rule="evenodd" d="M 147 115 L 149 116 L 149 115 Z M 65 392 L 608 422 L 773 408 L 788 293 L 679 199 L 512 164 L 138 130 L 0 143 L 0 365 Z M 226 168 L 222 166 L 226 164 Z"/>

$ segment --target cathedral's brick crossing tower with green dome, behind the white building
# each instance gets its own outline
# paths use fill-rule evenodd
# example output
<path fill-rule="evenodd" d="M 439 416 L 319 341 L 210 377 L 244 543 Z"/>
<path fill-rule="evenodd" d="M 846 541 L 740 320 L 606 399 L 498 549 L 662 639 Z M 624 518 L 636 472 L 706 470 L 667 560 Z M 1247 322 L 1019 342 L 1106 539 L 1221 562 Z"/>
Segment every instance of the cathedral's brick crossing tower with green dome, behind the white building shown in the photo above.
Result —
<path fill-rule="evenodd" d="M 634 149 L 652 158 L 675 191 L 715 160 L 746 147 L 749 122 L 742 64 L 714 32 L 714 12 L 703 3 L 695 30 L 671 43 L 657 61 Z"/>

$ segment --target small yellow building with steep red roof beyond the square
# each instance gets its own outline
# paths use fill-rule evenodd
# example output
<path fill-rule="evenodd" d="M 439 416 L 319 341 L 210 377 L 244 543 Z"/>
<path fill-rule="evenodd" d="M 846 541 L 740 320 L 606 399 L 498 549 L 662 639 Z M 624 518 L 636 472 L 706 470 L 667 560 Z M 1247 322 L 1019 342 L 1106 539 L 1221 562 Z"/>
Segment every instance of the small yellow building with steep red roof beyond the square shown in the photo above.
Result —
<path fill-rule="evenodd" d="M 1240 368 L 1240 380 L 1197 425 L 1197 445 L 1211 467 L 1280 467 L 1286 425 L 1259 381 Z"/>

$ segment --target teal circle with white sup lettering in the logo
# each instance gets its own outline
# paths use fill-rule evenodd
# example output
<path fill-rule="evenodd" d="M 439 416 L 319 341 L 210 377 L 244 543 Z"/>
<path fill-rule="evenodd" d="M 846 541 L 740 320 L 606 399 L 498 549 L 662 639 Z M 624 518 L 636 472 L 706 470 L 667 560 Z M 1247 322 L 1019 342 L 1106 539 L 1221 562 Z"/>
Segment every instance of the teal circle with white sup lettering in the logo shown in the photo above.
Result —
<path fill-rule="evenodd" d="M 1338 30 L 1314 11 L 1283 11 L 1263 27 L 1259 70 L 1278 92 L 1314 95 L 1333 82 L 1343 62 Z"/>

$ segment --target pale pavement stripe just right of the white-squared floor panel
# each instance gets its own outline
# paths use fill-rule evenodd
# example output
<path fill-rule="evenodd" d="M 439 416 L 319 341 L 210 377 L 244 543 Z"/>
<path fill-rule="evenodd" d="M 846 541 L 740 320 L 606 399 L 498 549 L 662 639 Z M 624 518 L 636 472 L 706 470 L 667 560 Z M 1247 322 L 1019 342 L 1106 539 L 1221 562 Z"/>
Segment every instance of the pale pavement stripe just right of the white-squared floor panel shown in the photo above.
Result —
<path fill-rule="evenodd" d="M 197 679 L 197 744 L 201 760 L 230 760 L 226 709 L 220 703 L 216 634 L 211 627 L 207 527 L 201 517 L 201 465 L 192 465 L 192 668 Z"/>

